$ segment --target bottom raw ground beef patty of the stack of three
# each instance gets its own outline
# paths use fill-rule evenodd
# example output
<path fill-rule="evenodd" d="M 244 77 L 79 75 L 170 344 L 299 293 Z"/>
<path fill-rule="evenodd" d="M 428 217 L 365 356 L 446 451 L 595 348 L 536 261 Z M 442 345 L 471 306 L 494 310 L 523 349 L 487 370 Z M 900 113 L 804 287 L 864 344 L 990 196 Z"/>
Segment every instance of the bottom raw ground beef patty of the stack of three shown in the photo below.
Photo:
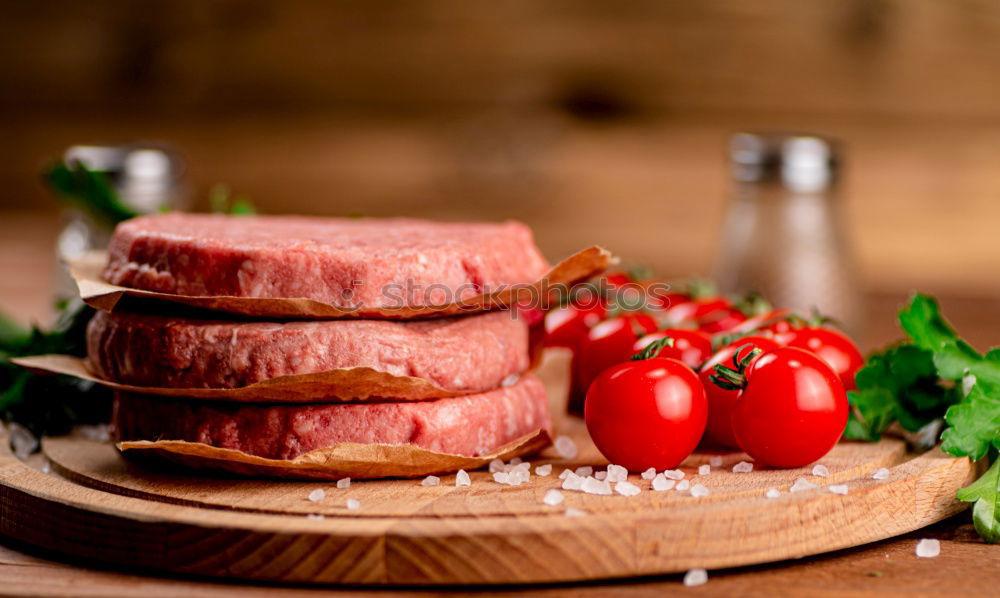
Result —
<path fill-rule="evenodd" d="M 271 459 L 342 442 L 477 456 L 551 428 L 545 387 L 532 375 L 481 394 L 407 403 L 231 406 L 120 392 L 113 424 L 117 441 L 186 440 Z"/>

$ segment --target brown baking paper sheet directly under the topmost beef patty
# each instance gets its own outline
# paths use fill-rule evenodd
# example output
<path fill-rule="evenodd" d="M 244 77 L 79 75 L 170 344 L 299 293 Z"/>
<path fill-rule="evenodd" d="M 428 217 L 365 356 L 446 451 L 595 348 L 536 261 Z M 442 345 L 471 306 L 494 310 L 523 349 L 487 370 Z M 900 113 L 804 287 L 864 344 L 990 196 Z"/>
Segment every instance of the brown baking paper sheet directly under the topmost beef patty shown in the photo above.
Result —
<path fill-rule="evenodd" d="M 594 245 L 574 253 L 556 264 L 540 279 L 531 284 L 515 285 L 494 293 L 477 295 L 458 303 L 436 306 L 416 306 L 383 309 L 346 308 L 322 303 L 313 299 L 280 299 L 268 297 L 211 297 L 173 295 L 140 289 L 130 289 L 108 284 L 101 280 L 107 263 L 107 252 L 93 251 L 69 263 L 70 274 L 80 290 L 80 297 L 90 306 L 112 311 L 124 297 L 159 299 L 200 309 L 211 309 L 247 316 L 268 318 L 388 318 L 412 319 L 469 314 L 490 309 L 510 307 L 519 299 L 538 296 L 543 289 L 569 285 L 600 274 L 618 262 L 611 253 Z"/>

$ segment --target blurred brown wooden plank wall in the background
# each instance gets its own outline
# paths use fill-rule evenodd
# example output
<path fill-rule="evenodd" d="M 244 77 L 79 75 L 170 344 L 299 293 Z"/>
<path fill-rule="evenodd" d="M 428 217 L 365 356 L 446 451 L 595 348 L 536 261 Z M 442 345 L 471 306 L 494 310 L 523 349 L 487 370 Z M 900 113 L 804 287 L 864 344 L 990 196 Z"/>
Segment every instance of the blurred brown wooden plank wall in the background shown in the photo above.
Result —
<path fill-rule="evenodd" d="M 743 128 L 843 138 L 875 290 L 1000 295 L 1000 5 L 0 0 L 0 209 L 71 143 L 165 141 L 196 206 L 516 217 L 708 274 Z"/>

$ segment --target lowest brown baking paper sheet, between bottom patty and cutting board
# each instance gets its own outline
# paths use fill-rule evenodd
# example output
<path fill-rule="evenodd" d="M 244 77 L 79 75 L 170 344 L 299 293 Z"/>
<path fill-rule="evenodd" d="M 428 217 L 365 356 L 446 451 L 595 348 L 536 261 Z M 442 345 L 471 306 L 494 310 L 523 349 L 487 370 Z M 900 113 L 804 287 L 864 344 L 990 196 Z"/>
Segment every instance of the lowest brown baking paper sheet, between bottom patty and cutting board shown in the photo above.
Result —
<path fill-rule="evenodd" d="M 551 443 L 546 430 L 537 430 L 505 444 L 488 455 L 449 455 L 413 445 L 345 442 L 316 449 L 294 459 L 265 459 L 242 451 L 183 440 L 130 440 L 116 446 L 122 454 L 166 459 L 192 469 L 222 470 L 239 475 L 334 480 L 344 477 L 412 478 L 459 469 L 479 469 L 493 459 L 509 460 L 536 453 Z"/>

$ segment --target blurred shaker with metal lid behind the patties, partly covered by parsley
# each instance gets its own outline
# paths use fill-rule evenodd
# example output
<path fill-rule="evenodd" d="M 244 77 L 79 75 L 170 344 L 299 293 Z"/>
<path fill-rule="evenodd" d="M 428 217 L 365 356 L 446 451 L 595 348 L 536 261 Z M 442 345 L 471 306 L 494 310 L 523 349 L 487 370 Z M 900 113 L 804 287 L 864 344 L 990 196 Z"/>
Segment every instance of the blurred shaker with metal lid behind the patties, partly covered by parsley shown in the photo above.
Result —
<path fill-rule="evenodd" d="M 114 187 L 118 199 L 136 213 L 186 207 L 182 164 L 168 149 L 141 145 L 75 145 L 66 150 L 63 160 L 66 164 L 79 163 L 102 173 Z M 66 208 L 63 217 L 65 226 L 56 246 L 60 263 L 77 259 L 91 249 L 107 247 L 111 237 L 109 223 L 74 207 Z M 57 296 L 75 296 L 76 285 L 66 268 L 60 267 L 57 272 Z"/>

